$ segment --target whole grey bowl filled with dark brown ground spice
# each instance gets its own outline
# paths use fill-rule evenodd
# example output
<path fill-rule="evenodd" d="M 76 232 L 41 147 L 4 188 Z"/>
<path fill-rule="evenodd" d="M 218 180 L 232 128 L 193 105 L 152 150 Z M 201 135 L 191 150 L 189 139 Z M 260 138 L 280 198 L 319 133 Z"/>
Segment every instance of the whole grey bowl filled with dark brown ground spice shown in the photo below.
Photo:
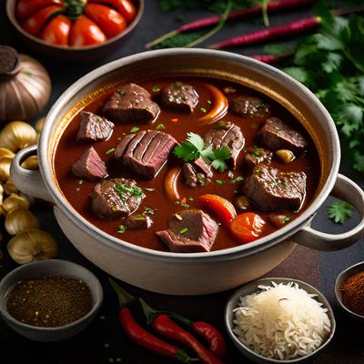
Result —
<path fill-rule="evenodd" d="M 15 268 L 1 280 L 0 313 L 28 339 L 59 341 L 86 329 L 103 297 L 88 269 L 67 260 L 41 260 Z"/>

